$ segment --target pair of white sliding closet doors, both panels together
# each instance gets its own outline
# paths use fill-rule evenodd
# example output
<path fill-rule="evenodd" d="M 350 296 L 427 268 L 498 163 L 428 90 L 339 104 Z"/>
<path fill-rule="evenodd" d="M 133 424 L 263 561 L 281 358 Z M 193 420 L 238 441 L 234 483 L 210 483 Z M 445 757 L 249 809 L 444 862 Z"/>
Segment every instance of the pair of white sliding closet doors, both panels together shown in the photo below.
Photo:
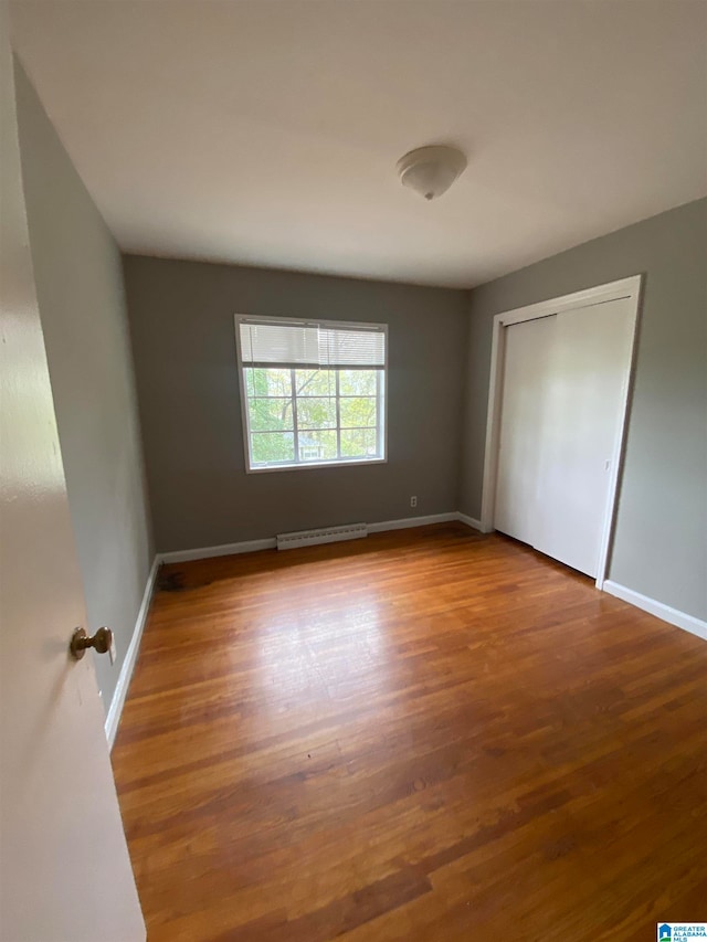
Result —
<path fill-rule="evenodd" d="M 494 526 L 597 575 L 629 379 L 629 298 L 506 330 Z"/>

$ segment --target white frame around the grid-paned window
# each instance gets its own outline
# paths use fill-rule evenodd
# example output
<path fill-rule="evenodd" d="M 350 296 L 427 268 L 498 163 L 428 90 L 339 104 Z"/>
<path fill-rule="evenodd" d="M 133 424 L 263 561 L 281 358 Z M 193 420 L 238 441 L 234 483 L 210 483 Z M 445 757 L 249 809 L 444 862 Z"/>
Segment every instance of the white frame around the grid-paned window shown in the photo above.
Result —
<path fill-rule="evenodd" d="M 379 447 L 382 447 L 382 457 L 376 458 L 351 458 L 350 461 L 346 458 L 338 458 L 336 461 L 326 461 L 326 462 L 294 462 L 292 464 L 278 464 L 278 465 L 270 465 L 267 467 L 263 466 L 252 466 L 251 465 L 251 420 L 247 409 L 247 390 L 245 389 L 245 373 L 243 367 L 243 356 L 241 351 L 241 324 L 273 324 L 273 322 L 282 322 L 282 324 L 292 324 L 298 325 L 300 327 L 323 327 L 325 329 L 331 330 L 346 330 L 355 329 L 371 329 L 380 331 L 384 335 L 386 338 L 386 360 L 382 368 L 377 368 L 382 370 L 383 377 L 383 390 L 382 393 L 378 393 L 379 400 L 381 400 L 381 414 L 383 417 L 382 430 L 380 425 L 378 426 L 379 434 Z M 306 468 L 349 468 L 356 467 L 359 465 L 384 465 L 388 464 L 388 325 L 387 324 L 374 324 L 372 321 L 362 321 L 362 320 L 319 320 L 319 319 L 307 319 L 303 320 L 296 317 L 253 317 L 252 315 L 245 314 L 236 314 L 234 317 L 235 324 L 235 351 L 236 351 L 236 360 L 238 360 L 238 370 L 239 370 L 239 392 L 241 396 L 241 423 L 242 423 L 242 432 L 243 432 L 243 456 L 245 459 L 245 473 L 246 474 L 272 474 L 274 472 L 291 472 L 291 470 L 305 470 Z M 274 366 L 274 364 L 273 364 Z M 339 370 L 346 369 L 346 367 L 331 367 L 331 369 Z M 337 372 L 337 391 L 338 391 L 338 372 Z M 339 398 L 337 395 L 337 413 L 338 413 L 338 402 Z M 295 400 L 293 398 L 293 412 L 296 410 Z M 295 413 L 296 414 L 296 413 Z M 296 419 L 295 419 L 296 421 Z M 338 423 L 338 414 L 337 414 L 337 432 L 339 431 Z"/>

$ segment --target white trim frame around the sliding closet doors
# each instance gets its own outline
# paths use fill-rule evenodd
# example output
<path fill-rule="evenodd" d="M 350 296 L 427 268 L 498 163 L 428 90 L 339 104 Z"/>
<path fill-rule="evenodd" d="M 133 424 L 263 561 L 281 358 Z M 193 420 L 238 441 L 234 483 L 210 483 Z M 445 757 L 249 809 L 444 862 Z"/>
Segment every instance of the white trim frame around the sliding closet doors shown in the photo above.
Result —
<path fill-rule="evenodd" d="M 504 383 L 504 353 L 506 346 L 506 328 L 513 324 L 521 324 L 525 320 L 537 320 L 553 314 L 574 310 L 577 308 L 592 307 L 611 300 L 623 298 L 631 299 L 633 317 L 631 353 L 626 363 L 626 371 L 622 387 L 621 423 L 616 436 L 615 451 L 611 461 L 611 477 L 609 480 L 609 497 L 604 509 L 602 523 L 602 537 L 599 551 L 599 565 L 597 569 L 597 588 L 602 589 L 606 579 L 606 567 L 609 550 L 613 538 L 615 522 L 616 494 L 621 478 L 624 446 L 626 437 L 626 417 L 633 385 L 633 373 L 636 356 L 636 336 L 639 326 L 639 311 L 641 308 L 641 293 L 643 288 L 643 275 L 632 275 L 618 282 L 609 282 L 582 292 L 550 298 L 538 304 L 517 307 L 513 310 L 497 314 L 494 317 L 494 334 L 490 352 L 490 380 L 488 387 L 488 411 L 486 416 L 486 448 L 484 453 L 484 485 L 482 495 L 482 532 L 489 533 L 494 529 L 494 510 L 496 499 L 496 477 L 498 472 L 498 445 L 500 440 L 500 408 L 503 402 Z"/>

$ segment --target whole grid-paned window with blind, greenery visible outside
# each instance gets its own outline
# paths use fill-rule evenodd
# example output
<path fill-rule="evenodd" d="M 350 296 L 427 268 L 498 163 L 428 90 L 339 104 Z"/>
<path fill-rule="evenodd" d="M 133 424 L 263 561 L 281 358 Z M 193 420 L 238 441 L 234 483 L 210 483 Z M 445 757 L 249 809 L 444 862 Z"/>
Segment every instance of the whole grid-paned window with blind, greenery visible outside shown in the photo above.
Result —
<path fill-rule="evenodd" d="M 383 324 L 236 317 L 247 469 L 386 461 Z"/>

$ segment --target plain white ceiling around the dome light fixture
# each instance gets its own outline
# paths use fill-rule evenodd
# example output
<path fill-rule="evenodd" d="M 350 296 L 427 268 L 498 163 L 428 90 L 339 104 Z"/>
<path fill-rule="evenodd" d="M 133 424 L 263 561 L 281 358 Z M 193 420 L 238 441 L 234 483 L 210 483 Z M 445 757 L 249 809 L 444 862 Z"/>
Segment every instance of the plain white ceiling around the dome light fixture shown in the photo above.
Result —
<path fill-rule="evenodd" d="M 707 193 L 703 0 L 22 0 L 128 252 L 469 287 Z M 395 161 L 454 144 L 439 201 Z"/>

